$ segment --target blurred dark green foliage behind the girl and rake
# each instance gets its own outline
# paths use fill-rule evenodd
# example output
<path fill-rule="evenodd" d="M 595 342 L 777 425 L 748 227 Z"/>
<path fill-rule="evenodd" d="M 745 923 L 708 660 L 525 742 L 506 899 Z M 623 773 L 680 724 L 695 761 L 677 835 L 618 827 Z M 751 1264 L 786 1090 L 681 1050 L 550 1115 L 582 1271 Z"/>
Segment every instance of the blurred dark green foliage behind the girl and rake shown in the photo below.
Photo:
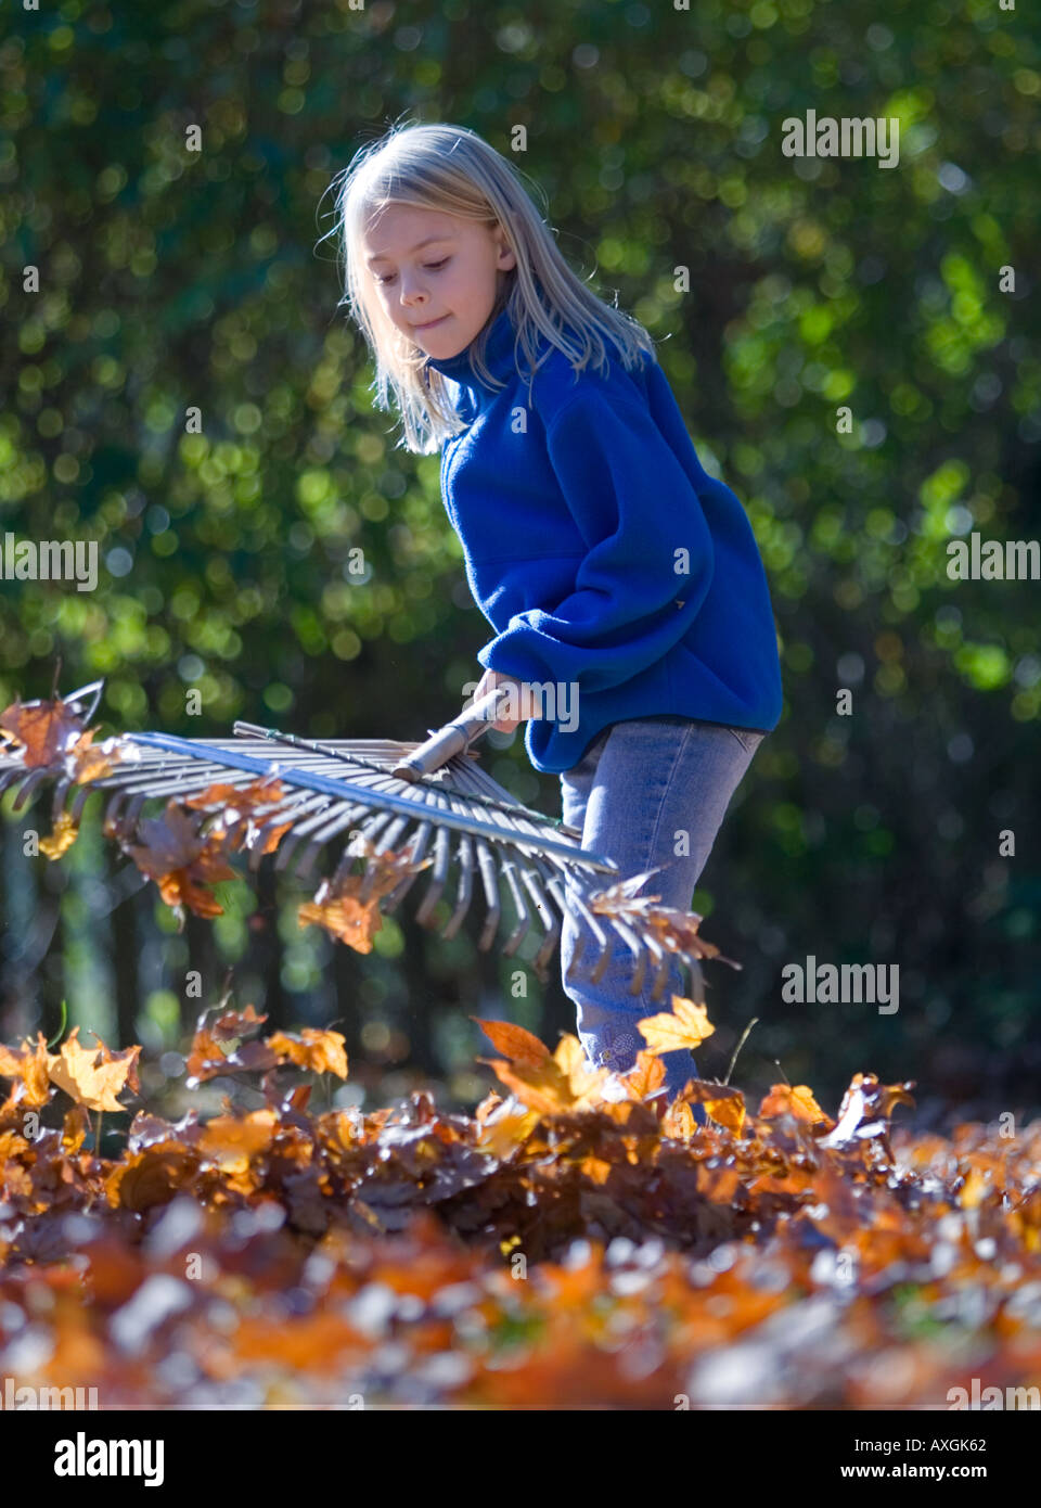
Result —
<path fill-rule="evenodd" d="M 823 1093 L 875 1069 L 925 1101 L 1036 1104 L 1041 587 L 946 575 L 952 537 L 1039 528 L 1030 8 L 66 0 L 0 24 L 0 529 L 98 540 L 105 562 L 95 593 L 0 582 L 0 704 L 47 695 L 60 656 L 66 691 L 105 677 L 107 728 L 419 737 L 458 710 L 488 630 L 438 460 L 374 410 L 319 238 L 333 175 L 392 121 L 506 155 L 523 125 L 512 160 L 563 253 L 664 341 L 782 635 L 783 719 L 695 896 L 744 964 L 708 967 L 699 1068 L 722 1074 L 758 1015 L 746 1086 L 776 1057 Z M 899 118 L 899 166 L 783 157 L 809 109 Z M 485 759 L 559 813 L 520 736 Z M 511 997 L 478 917 L 452 942 L 389 921 L 362 959 L 301 932 L 268 879 L 176 935 L 89 823 L 62 864 L 23 858 L 30 820 L 5 823 L 6 1038 L 68 995 L 72 1019 L 173 1050 L 232 967 L 240 1003 L 339 1019 L 360 1084 L 441 1074 L 466 1099 L 469 1015 L 572 1025 L 559 985 Z M 807 955 L 899 964 L 898 1015 L 783 1004 L 780 968 Z"/>

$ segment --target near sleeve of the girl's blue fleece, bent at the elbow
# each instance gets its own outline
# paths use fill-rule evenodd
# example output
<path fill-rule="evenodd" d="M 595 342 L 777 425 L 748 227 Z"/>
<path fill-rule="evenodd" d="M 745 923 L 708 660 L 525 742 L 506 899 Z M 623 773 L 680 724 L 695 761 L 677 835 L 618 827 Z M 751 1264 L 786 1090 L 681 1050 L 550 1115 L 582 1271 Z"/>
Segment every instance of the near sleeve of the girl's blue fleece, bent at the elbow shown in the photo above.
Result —
<path fill-rule="evenodd" d="M 588 553 L 571 596 L 551 612 L 515 614 L 478 661 L 515 680 L 606 691 L 690 629 L 713 581 L 713 538 L 690 477 L 639 401 L 585 386 L 554 416 L 547 449 Z"/>

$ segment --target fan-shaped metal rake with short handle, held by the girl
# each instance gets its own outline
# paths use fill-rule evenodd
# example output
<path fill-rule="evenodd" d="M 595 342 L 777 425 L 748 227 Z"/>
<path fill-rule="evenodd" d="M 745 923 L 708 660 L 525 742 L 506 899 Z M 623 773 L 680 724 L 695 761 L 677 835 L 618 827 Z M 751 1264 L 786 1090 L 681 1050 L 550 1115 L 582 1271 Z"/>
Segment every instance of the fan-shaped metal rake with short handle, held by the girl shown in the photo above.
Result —
<path fill-rule="evenodd" d="M 62 716 L 74 719 L 78 739 L 96 712 L 102 686 L 98 680 L 53 703 L 15 703 L 15 707 L 60 709 Z M 249 808 L 250 870 L 259 867 L 274 841 L 274 869 L 303 879 L 313 872 L 319 854 L 339 841 L 345 847 L 315 900 L 322 893 L 336 896 L 356 860 L 362 858 L 363 876 L 354 894 L 365 903 L 377 884 L 380 861 L 386 866 L 393 858 L 404 878 L 392 890 L 386 884 L 383 891 L 377 890 L 383 912 L 395 911 L 420 869 L 429 869 L 429 884 L 414 920 L 437 929 L 435 908 L 453 875 L 452 911 L 440 929 L 441 938 L 453 938 L 470 908 L 478 876 L 487 906 L 478 949 L 491 947 L 503 921 L 500 894 L 508 894 L 515 920 L 500 952 L 514 956 L 538 918 L 542 938 L 530 964 L 542 983 L 568 914 L 588 927 L 585 935 L 580 927 L 575 941 L 575 977 L 595 983 L 603 976 L 613 929 L 633 958 L 631 994 L 642 991 L 651 965 L 655 971 L 651 995 L 658 1000 L 672 961 L 685 964 L 691 979 L 701 982 L 699 959 L 717 956 L 711 944 L 695 938 L 701 918 L 693 912 L 663 909 L 655 926 L 649 902 L 657 897 L 633 900 L 649 875 L 622 876 L 610 858 L 582 847 L 575 828 L 518 804 L 476 762 L 472 745 L 494 722 L 500 698 L 506 695 L 506 686 L 496 688 L 441 728 L 428 728 L 428 739 L 416 743 L 315 740 L 253 722 L 235 722 L 234 739 L 122 733 L 99 745 L 118 762 L 114 768 L 84 777 L 83 784 L 69 774 L 69 760 L 63 757 L 72 734 L 65 745 L 59 743 L 53 757 L 36 765 L 27 760 L 26 746 L 3 743 L 0 793 L 18 792 L 12 807 L 17 811 L 42 781 L 54 780 L 57 825 L 63 813 L 78 823 L 90 793 L 108 792 L 104 829 L 118 835 L 125 847 L 125 840 L 137 832 L 146 802 L 178 805 L 190 801 L 191 810 L 203 813 L 205 823 L 209 814 L 220 816 L 234 807 L 235 790 L 250 787 L 255 801 L 258 781 L 277 780 L 283 787 L 277 798 Z M 209 787 L 215 786 L 220 789 L 206 799 Z M 234 787 L 230 795 L 229 786 Z M 386 869 L 383 873 L 386 878 Z M 682 915 L 687 926 L 663 927 L 660 918 L 666 914 Z M 586 974 L 579 964 L 588 935 L 594 938 L 597 958 Z"/>

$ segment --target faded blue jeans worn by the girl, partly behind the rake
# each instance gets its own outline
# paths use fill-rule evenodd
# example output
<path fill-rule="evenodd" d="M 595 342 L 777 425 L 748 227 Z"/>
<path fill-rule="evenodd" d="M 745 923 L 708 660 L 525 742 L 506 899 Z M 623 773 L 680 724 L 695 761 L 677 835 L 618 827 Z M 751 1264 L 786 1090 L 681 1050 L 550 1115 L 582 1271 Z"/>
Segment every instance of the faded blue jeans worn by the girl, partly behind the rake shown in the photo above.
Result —
<path fill-rule="evenodd" d="M 612 722 L 582 760 L 560 775 L 563 820 L 582 831 L 583 847 L 613 860 L 625 879 L 664 866 L 639 894 L 660 896 L 661 905 L 690 911 L 731 796 L 764 737 L 749 728 L 673 713 Z M 679 840 L 681 832 L 687 834 L 685 841 Z M 568 891 L 569 881 L 565 896 Z M 568 979 L 580 932 L 583 976 L 598 956 L 588 923 L 572 915 L 565 918 L 560 935 L 560 977 L 565 994 L 579 1007 L 579 1038 L 586 1057 L 597 1066 L 627 1072 L 645 1047 L 636 1022 L 670 1010 L 670 995 L 687 991 L 681 965 L 672 959 L 666 988 L 652 1000 L 657 965 L 648 956 L 643 988 L 631 995 L 633 955 L 606 918 L 597 920 L 610 941 L 610 961 L 600 980 L 591 985 L 586 977 Z M 693 1054 L 685 1048 L 664 1053 L 661 1062 L 669 1098 L 698 1077 Z"/>

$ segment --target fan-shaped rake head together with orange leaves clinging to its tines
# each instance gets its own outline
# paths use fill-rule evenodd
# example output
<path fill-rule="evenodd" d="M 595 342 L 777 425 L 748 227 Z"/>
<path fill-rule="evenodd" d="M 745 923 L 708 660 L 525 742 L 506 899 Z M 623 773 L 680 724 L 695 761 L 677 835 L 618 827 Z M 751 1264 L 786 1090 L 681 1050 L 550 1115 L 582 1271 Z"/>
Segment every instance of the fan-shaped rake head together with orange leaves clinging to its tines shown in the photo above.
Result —
<path fill-rule="evenodd" d="M 246 854 L 253 872 L 274 854 L 276 870 L 303 881 L 330 851 L 336 861 L 304 911 L 360 952 L 371 947 L 378 912 L 393 912 L 429 870 L 416 921 L 437 929 L 434 911 L 447 893 L 452 909 L 440 935 L 455 936 L 476 873 L 487 911 L 478 947 L 491 947 L 503 921 L 500 894 L 509 896 L 514 918 L 500 952 L 514 956 L 538 921 L 542 938 L 530 964 L 544 983 L 566 915 L 579 924 L 574 976 L 586 977 L 577 965 L 592 936 L 588 977 L 601 977 L 613 929 L 633 956 L 634 995 L 648 964 L 658 1000 L 673 961 L 701 983 L 699 959 L 719 956 L 698 938 L 696 914 L 636 897 L 649 875 L 622 876 L 612 860 L 583 849 L 574 828 L 520 805 L 476 763 L 469 743 L 494 719 L 503 688 L 431 730 L 425 743 L 310 740 L 250 722 L 237 722 L 234 739 L 122 733 L 93 743 L 86 724 L 101 689 L 93 682 L 0 715 L 0 793 L 15 789 L 20 810 L 38 786 L 54 781 L 54 832 L 74 837 L 90 793 L 107 792 L 105 835 L 160 882 L 167 900 L 214 915 L 220 906 L 203 887 L 234 876 L 232 854 Z M 145 816 L 149 802 L 163 804 L 161 819 Z"/>

